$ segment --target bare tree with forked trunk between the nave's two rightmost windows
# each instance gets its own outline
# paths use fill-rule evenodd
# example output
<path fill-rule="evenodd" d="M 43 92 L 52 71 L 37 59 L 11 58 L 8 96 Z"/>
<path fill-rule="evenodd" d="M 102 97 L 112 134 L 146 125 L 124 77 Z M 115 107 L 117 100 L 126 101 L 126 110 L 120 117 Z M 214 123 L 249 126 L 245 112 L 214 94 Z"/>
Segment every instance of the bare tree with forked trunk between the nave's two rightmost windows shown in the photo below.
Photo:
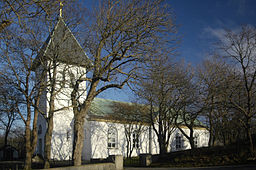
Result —
<path fill-rule="evenodd" d="M 185 136 L 185 138 L 188 139 L 191 149 L 194 149 L 194 128 L 203 126 L 200 121 L 198 121 L 198 118 L 202 115 L 205 108 L 202 102 L 199 82 L 195 78 L 193 69 L 185 65 L 183 67 L 179 67 L 179 69 L 180 71 L 177 70 L 179 72 L 179 76 L 176 81 L 180 83 L 176 87 L 177 97 L 180 102 L 177 103 L 177 105 L 171 106 L 170 109 L 175 110 L 177 114 L 175 119 L 176 127 Z M 188 128 L 188 134 L 182 126 Z"/>

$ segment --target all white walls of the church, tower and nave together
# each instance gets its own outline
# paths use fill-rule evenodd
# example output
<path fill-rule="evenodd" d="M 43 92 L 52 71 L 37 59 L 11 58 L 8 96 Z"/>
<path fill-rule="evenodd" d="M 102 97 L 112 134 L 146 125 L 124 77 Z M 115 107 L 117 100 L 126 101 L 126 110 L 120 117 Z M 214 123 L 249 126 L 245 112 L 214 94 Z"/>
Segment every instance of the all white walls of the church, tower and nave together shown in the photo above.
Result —
<path fill-rule="evenodd" d="M 71 95 L 71 83 L 72 80 L 69 77 L 70 75 L 73 78 L 77 79 L 78 77 L 85 77 L 86 69 L 83 67 L 59 64 L 57 69 L 58 82 L 55 89 L 57 95 L 55 100 L 55 110 L 53 117 L 53 136 L 52 136 L 52 149 L 51 149 L 51 158 L 55 160 L 70 160 L 72 159 L 72 148 L 73 148 L 73 110 L 70 101 Z M 72 74 L 71 74 L 72 73 Z M 40 75 L 40 67 L 38 68 L 37 74 Z M 65 85 L 60 85 L 64 80 L 63 75 L 65 75 Z M 49 81 L 49 74 L 47 75 L 46 82 Z M 81 84 L 81 97 L 80 100 L 84 100 L 86 97 L 86 84 Z M 49 89 L 46 89 L 40 100 L 40 110 L 45 113 L 49 111 L 49 98 L 50 93 Z M 106 99 L 95 99 L 98 104 L 103 101 L 109 101 Z M 104 110 L 104 107 L 101 109 Z M 133 125 L 134 130 L 136 130 Z M 43 155 L 44 153 L 44 135 L 47 128 L 47 122 L 45 118 L 39 114 L 38 118 L 38 144 L 37 144 L 37 153 Z M 127 154 L 127 138 L 125 136 L 125 123 L 117 123 L 114 120 L 109 120 L 107 118 L 101 119 L 92 119 L 89 115 L 85 121 L 85 140 L 84 147 L 82 152 L 83 160 L 90 159 L 101 159 L 107 158 L 109 155 L 123 155 Z M 116 130 L 116 138 L 112 144 L 109 144 L 109 130 Z M 183 127 L 184 131 L 189 134 L 189 129 Z M 151 133 L 151 135 L 150 135 Z M 194 134 L 197 136 L 196 145 L 197 147 L 207 146 L 208 143 L 208 131 L 205 128 L 198 127 L 194 129 Z M 151 136 L 151 137 L 150 137 Z M 157 135 L 150 130 L 148 125 L 143 125 L 142 131 L 138 140 L 133 139 L 134 136 L 131 134 L 131 145 L 134 145 L 132 156 L 138 156 L 143 153 L 158 154 L 159 146 Z M 136 142 L 136 144 L 134 144 Z M 170 143 L 168 145 L 168 151 L 177 151 L 189 149 L 189 141 L 182 135 L 182 133 L 175 129 L 171 135 Z"/>

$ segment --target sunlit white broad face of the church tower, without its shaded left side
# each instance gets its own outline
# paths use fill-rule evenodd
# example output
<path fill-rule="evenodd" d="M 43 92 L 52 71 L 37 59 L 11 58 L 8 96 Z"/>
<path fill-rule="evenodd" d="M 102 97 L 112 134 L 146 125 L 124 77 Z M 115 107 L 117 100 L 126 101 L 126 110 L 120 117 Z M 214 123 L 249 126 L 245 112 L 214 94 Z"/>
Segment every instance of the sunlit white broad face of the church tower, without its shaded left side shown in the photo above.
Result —
<path fill-rule="evenodd" d="M 60 84 L 57 85 L 56 88 L 56 91 L 59 90 L 59 93 L 57 94 L 55 100 L 55 110 L 60 109 L 60 111 L 54 113 L 53 119 L 54 128 L 51 154 L 53 159 L 70 160 L 72 158 L 74 114 L 70 100 L 72 92 L 71 81 L 79 78 L 85 78 L 85 72 L 85 68 L 78 66 L 67 66 L 66 64 L 60 64 L 58 67 L 57 79 L 59 80 Z M 65 76 L 63 76 L 64 74 Z M 61 85 L 62 82 L 65 82 L 64 86 Z M 86 83 L 82 82 L 79 89 L 81 89 L 79 92 L 81 102 L 86 97 Z"/>

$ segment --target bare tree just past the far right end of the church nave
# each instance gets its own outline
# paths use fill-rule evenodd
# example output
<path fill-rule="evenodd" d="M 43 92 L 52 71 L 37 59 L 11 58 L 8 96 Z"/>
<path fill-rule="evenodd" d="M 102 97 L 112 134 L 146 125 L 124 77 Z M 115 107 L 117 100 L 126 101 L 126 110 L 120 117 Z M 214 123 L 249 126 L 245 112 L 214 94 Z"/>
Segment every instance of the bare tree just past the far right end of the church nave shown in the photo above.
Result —
<path fill-rule="evenodd" d="M 200 88 L 203 91 L 204 116 L 206 116 L 206 124 L 209 128 L 209 146 L 213 146 L 217 138 L 217 125 L 219 122 L 219 109 L 224 108 L 224 100 L 220 102 L 220 93 L 222 93 L 221 84 L 227 78 L 229 73 L 228 66 L 223 60 L 212 58 L 205 60 L 197 69 L 197 76 L 200 81 Z M 227 108 L 227 107 L 226 107 Z"/>

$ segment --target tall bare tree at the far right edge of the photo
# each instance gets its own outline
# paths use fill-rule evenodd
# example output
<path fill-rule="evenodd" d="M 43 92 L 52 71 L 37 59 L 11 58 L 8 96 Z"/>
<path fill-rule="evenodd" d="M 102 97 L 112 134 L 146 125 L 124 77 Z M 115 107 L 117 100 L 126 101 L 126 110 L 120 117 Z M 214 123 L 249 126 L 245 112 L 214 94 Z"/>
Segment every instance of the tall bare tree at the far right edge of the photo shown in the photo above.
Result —
<path fill-rule="evenodd" d="M 256 29 L 252 26 L 241 27 L 240 32 L 226 31 L 220 44 L 220 55 L 229 59 L 237 69 L 236 77 L 242 83 L 240 93 L 231 93 L 230 102 L 243 116 L 240 121 L 246 130 L 250 143 L 250 153 L 254 155 L 252 141 L 252 118 L 255 116 L 255 78 L 256 78 Z M 240 98 L 240 100 L 234 100 Z"/>

